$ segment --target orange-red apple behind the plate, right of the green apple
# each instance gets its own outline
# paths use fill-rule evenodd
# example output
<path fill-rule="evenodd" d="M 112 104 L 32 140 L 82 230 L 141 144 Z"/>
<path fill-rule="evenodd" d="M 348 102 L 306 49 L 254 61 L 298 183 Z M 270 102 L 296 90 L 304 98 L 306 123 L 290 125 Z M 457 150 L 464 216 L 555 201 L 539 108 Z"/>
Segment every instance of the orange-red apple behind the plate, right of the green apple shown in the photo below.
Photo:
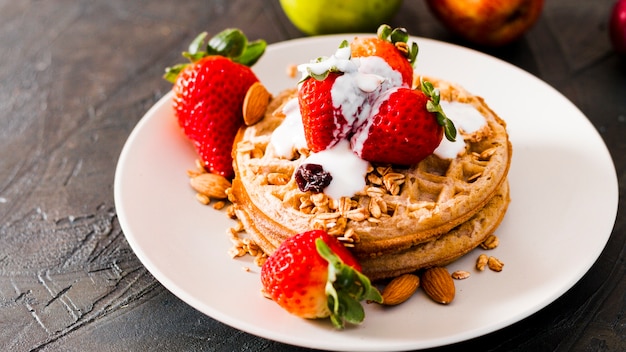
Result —
<path fill-rule="evenodd" d="M 426 0 L 451 32 L 470 42 L 500 46 L 521 37 L 539 18 L 544 0 Z"/>

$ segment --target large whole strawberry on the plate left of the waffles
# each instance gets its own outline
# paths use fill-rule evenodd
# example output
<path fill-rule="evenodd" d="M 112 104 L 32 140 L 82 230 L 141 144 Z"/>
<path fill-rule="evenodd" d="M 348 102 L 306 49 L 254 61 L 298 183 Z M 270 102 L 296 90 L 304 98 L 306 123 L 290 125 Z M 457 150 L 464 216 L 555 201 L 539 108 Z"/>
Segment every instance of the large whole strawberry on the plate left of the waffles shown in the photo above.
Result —
<path fill-rule="evenodd" d="M 234 174 L 231 149 L 243 125 L 242 105 L 248 88 L 258 82 L 249 66 L 263 54 L 266 43 L 248 42 L 238 29 L 227 29 L 208 40 L 200 34 L 183 56 L 190 63 L 166 69 L 174 83 L 173 108 L 178 124 L 205 168 L 227 178 Z"/>

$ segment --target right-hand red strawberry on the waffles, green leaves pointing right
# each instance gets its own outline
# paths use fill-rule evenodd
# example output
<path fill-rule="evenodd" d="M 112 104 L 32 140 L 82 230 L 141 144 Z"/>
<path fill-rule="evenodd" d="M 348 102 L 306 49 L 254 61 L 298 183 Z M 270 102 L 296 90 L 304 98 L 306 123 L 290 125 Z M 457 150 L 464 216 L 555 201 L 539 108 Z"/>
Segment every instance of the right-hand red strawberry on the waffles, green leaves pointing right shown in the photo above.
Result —
<path fill-rule="evenodd" d="M 379 97 L 370 121 L 350 140 L 360 158 L 413 165 L 432 154 L 444 134 L 454 140 L 456 129 L 439 105 L 439 92 L 429 82 L 421 87 L 395 88 Z"/>

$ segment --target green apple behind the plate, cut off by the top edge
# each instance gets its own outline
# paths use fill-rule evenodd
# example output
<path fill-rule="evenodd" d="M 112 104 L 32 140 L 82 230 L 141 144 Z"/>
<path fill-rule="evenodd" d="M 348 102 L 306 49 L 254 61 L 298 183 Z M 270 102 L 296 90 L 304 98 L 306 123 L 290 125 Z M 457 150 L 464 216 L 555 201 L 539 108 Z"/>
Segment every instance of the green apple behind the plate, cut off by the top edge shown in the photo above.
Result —
<path fill-rule="evenodd" d="M 289 20 L 307 35 L 376 32 L 402 0 L 280 0 Z"/>

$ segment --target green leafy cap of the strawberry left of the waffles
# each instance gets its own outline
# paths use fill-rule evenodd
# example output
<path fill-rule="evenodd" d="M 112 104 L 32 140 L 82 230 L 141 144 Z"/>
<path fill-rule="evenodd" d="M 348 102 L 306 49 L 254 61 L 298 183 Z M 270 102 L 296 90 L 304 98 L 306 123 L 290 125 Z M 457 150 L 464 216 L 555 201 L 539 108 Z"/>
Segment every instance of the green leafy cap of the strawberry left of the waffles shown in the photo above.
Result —
<path fill-rule="evenodd" d="M 225 29 L 209 38 L 208 41 L 206 41 L 207 36 L 207 32 L 202 32 L 196 36 L 189 44 L 188 51 L 182 53 L 189 62 L 166 68 L 163 78 L 174 83 L 180 71 L 189 63 L 212 55 L 224 56 L 242 65 L 252 66 L 263 55 L 267 47 L 267 43 L 262 39 L 249 42 L 246 35 L 236 28 Z"/>

